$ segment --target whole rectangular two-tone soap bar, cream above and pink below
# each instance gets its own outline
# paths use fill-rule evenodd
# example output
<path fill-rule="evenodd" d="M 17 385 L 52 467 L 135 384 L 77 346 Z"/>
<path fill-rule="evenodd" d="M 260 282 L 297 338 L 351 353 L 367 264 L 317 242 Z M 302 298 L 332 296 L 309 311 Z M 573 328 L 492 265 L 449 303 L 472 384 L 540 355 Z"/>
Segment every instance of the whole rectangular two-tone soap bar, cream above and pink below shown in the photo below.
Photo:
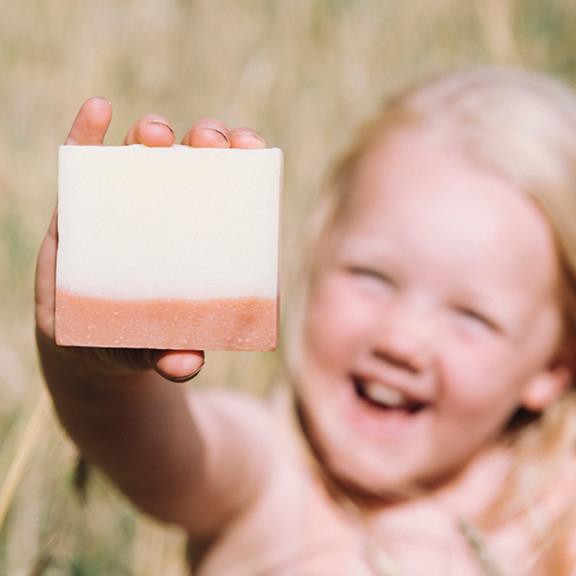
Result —
<path fill-rule="evenodd" d="M 56 342 L 272 350 L 282 152 L 61 146 Z"/>

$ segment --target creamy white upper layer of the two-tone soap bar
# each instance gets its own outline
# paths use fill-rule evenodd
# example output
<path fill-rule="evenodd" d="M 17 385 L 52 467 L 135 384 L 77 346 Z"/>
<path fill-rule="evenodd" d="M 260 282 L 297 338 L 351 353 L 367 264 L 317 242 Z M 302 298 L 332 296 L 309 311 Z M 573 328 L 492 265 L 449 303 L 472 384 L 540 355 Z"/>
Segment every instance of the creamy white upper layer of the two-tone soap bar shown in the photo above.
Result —
<path fill-rule="evenodd" d="M 277 148 L 61 146 L 58 289 L 275 298 L 281 172 Z"/>

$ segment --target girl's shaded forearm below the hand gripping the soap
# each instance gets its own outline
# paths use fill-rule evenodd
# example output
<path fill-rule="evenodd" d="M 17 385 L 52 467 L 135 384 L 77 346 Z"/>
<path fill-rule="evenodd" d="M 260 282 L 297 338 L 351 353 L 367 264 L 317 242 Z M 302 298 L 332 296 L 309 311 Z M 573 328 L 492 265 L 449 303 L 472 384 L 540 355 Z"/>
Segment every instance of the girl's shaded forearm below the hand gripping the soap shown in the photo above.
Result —
<path fill-rule="evenodd" d="M 86 457 L 138 506 L 185 523 L 203 448 L 181 385 L 152 370 L 94 370 L 38 335 L 56 412 Z"/>

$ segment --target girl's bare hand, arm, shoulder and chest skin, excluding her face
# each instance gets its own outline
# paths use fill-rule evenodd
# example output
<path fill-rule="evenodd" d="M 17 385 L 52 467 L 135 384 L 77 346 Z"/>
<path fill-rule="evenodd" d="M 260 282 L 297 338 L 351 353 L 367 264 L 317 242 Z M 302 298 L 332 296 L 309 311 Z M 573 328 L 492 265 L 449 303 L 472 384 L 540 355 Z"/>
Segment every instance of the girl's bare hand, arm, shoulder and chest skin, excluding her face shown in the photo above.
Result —
<path fill-rule="evenodd" d="M 88 100 L 66 143 L 102 144 L 111 112 L 106 100 Z M 125 144 L 175 141 L 163 117 L 148 115 L 128 131 Z M 266 146 L 252 130 L 230 130 L 213 119 L 193 125 L 181 142 Z M 195 574 L 395 574 L 385 571 L 374 547 L 390 553 L 400 573 L 482 574 L 458 532 L 456 510 L 473 516 L 475 506 L 490 500 L 508 470 L 503 450 L 486 450 L 442 493 L 359 514 L 362 505 L 335 493 L 312 463 L 289 402 L 270 406 L 229 392 L 187 396 L 179 382 L 202 368 L 202 352 L 56 346 L 56 247 L 54 216 L 38 257 L 36 321 L 58 416 L 83 454 L 137 506 L 190 535 Z M 470 500 L 470 493 L 485 500 Z M 490 545 L 514 556 L 526 553 L 526 541 L 526 527 L 511 526 Z"/>

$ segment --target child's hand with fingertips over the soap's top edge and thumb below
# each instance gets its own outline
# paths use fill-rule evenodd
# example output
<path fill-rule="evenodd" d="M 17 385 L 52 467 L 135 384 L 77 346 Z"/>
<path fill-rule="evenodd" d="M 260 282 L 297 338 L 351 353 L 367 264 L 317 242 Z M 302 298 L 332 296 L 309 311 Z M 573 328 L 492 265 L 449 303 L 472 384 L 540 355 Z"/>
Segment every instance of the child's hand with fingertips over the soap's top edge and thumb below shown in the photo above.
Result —
<path fill-rule="evenodd" d="M 112 117 L 112 107 L 103 98 L 91 98 L 80 108 L 66 144 L 100 145 Z M 126 135 L 125 144 L 172 146 L 176 137 L 168 122 L 150 114 L 139 120 Z M 228 130 L 213 119 L 197 122 L 186 133 L 182 144 L 203 148 L 264 148 L 264 140 L 245 128 Z M 56 277 L 56 248 L 58 244 L 56 211 L 44 238 L 36 267 L 36 325 L 40 346 L 55 349 L 54 294 Z M 202 367 L 204 354 L 200 351 L 132 350 L 117 348 L 61 348 L 61 354 L 75 355 L 83 363 L 101 370 L 156 370 L 174 381 L 191 378 Z M 72 356 L 70 356 L 71 358 Z"/>

